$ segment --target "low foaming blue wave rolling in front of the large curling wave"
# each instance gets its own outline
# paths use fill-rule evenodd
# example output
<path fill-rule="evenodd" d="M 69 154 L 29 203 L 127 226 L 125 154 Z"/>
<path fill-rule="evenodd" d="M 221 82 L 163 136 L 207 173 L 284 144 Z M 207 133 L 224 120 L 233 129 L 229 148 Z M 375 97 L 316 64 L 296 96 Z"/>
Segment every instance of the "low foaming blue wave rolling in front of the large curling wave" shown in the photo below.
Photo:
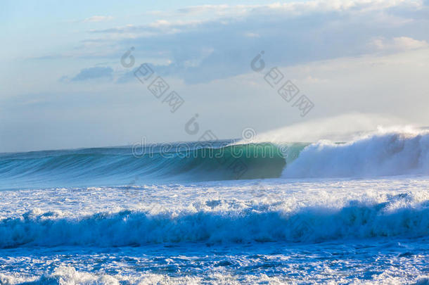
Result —
<path fill-rule="evenodd" d="M 208 201 L 207 203 L 209 203 Z M 0 248 L 20 246 L 143 246 L 151 243 L 321 242 L 383 236 L 429 235 L 429 201 L 406 194 L 371 205 L 300 208 L 293 213 L 252 206 L 245 210 L 125 210 L 79 218 L 28 212 L 0 222 Z M 208 205 L 208 204 L 207 204 Z"/>

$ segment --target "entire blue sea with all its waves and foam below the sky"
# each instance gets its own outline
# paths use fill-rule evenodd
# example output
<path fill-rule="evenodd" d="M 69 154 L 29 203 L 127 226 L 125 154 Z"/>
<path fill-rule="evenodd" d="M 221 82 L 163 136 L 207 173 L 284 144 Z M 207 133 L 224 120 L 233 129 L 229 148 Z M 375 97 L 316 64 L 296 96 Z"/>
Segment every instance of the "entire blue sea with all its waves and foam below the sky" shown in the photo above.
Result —
<path fill-rule="evenodd" d="M 429 284 L 428 132 L 168 154 L 0 154 L 0 284 Z"/>

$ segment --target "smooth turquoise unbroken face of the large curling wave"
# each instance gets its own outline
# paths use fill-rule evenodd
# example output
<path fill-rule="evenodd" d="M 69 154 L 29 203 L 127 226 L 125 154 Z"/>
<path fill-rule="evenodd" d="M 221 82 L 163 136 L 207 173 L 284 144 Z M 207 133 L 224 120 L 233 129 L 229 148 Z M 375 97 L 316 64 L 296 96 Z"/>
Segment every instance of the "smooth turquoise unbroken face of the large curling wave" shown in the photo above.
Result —
<path fill-rule="evenodd" d="M 0 155 L 0 188 L 115 186 L 280 177 L 305 144 L 156 144 Z"/>

